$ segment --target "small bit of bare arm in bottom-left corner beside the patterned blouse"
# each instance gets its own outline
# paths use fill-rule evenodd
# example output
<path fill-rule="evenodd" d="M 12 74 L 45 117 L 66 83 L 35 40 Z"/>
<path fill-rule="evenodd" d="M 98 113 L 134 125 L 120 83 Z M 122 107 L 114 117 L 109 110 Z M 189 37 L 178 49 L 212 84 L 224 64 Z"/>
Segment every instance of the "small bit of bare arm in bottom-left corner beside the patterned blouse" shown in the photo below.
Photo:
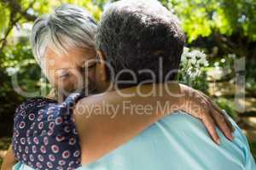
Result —
<path fill-rule="evenodd" d="M 15 166 L 17 160 L 15 159 L 15 154 L 12 145 L 9 146 L 9 150 L 3 159 L 3 164 L 1 170 L 11 170 Z"/>

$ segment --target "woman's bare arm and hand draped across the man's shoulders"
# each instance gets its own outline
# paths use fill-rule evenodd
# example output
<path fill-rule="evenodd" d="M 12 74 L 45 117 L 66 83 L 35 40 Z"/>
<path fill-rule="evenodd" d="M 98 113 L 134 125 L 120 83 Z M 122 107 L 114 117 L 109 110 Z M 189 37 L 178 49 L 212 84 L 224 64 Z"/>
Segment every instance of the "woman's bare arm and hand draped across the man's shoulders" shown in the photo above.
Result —
<path fill-rule="evenodd" d="M 144 85 L 139 91 L 138 88 L 126 88 L 81 99 L 75 107 L 74 118 L 82 153 L 86 153 L 82 163 L 95 161 L 163 116 L 178 110 L 201 119 L 217 143 L 215 122 L 232 139 L 229 122 L 206 96 L 174 82 L 162 88 L 163 84 Z M 127 97 L 128 94 L 134 95 Z"/>

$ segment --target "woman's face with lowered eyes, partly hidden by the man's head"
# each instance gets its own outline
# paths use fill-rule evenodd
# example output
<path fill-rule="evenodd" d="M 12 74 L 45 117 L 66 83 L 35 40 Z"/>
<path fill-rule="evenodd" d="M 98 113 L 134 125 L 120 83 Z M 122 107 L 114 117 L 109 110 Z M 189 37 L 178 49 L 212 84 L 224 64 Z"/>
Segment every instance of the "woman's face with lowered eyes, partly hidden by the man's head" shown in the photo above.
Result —
<path fill-rule="evenodd" d="M 70 48 L 66 54 L 55 53 L 52 48 L 45 52 L 45 74 L 49 82 L 67 95 L 78 90 L 95 89 L 96 51 L 90 48 Z"/>

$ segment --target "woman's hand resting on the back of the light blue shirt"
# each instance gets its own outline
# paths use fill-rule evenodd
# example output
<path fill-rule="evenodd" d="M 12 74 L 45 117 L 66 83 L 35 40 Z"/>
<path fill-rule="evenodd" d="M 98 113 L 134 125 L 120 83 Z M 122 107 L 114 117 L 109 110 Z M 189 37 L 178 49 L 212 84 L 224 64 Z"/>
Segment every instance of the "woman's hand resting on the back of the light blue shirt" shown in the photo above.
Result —
<path fill-rule="evenodd" d="M 207 127 L 212 139 L 220 144 L 216 126 L 224 133 L 226 138 L 232 140 L 232 132 L 234 127 L 224 115 L 217 105 L 215 105 L 207 95 L 198 90 L 180 85 L 183 97 L 180 100 L 180 108 L 182 111 L 189 113 L 191 116 L 201 119 Z"/>

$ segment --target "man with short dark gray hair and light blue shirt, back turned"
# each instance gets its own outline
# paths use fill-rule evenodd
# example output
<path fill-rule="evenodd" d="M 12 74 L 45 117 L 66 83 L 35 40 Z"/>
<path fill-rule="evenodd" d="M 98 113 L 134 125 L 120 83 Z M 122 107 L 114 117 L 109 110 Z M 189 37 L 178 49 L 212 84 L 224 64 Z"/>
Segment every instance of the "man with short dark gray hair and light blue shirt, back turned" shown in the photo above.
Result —
<path fill-rule="evenodd" d="M 177 25 L 177 19 L 159 2 L 121 0 L 104 12 L 96 34 L 96 47 L 101 61 L 98 64 L 101 73 L 98 77 L 106 81 L 98 84 L 103 91 L 111 83 L 124 87 L 127 86 L 123 84 L 124 81 L 132 82 L 128 86 L 134 86 L 139 82 L 153 80 L 148 71 L 142 70 L 159 73 L 159 60 L 163 61 L 162 75 L 157 75 L 156 79 L 164 76 L 167 77 L 164 80 L 174 80 L 175 73 L 171 72 L 171 76 L 168 74 L 168 65 L 172 65 L 172 69 L 178 66 L 183 33 Z M 106 63 L 113 67 L 113 74 L 106 68 Z M 133 82 L 129 71 L 117 77 L 119 71 L 124 70 L 134 73 L 137 82 Z M 108 99 L 108 95 L 104 96 L 106 98 Z M 100 102 L 100 99 L 96 98 L 94 104 Z M 152 100 L 154 99 L 156 98 Z M 112 104 L 117 105 L 116 101 Z M 77 117 L 78 122 L 80 118 L 82 116 Z M 91 117 L 91 120 L 97 119 L 99 126 L 102 119 Z M 236 128 L 235 139 L 229 141 L 219 133 L 222 143 L 218 147 L 208 138 L 205 128 L 195 118 L 186 114 L 166 116 L 125 144 L 112 144 L 108 140 L 101 144 L 103 141 L 97 140 L 95 144 L 82 145 L 84 153 L 85 150 L 102 152 L 98 151 L 101 154 L 95 154 L 95 157 L 82 156 L 83 163 L 92 163 L 79 169 L 255 170 L 246 137 L 236 122 L 231 118 L 230 121 Z M 82 132 L 97 132 L 96 122 L 86 128 L 78 127 L 81 141 L 90 140 Z M 104 124 L 100 129 L 103 131 L 103 128 Z M 112 151 L 106 151 L 108 148 Z"/>

